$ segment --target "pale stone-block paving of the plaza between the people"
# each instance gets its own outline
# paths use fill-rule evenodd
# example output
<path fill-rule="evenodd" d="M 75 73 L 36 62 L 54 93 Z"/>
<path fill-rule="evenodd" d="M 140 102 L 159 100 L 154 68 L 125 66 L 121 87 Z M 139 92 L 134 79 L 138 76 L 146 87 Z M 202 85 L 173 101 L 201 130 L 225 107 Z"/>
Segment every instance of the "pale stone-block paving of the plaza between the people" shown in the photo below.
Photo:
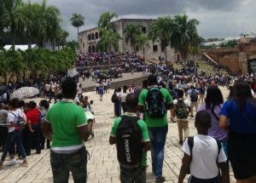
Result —
<path fill-rule="evenodd" d="M 226 97 L 228 90 L 222 90 Z M 109 91 L 108 94 L 104 94 L 103 101 L 100 101 L 99 96 L 95 92 L 86 93 L 89 96 L 89 100 L 94 100 L 93 109 L 96 114 L 95 138 L 85 143 L 90 153 L 87 166 L 89 183 L 119 182 L 119 163 L 116 157 L 115 146 L 108 145 L 108 137 L 111 124 L 113 123 L 113 103 L 110 100 L 112 94 L 113 90 Z M 193 119 L 189 118 L 189 135 L 194 135 L 195 133 Z M 178 145 L 177 123 L 169 123 L 163 169 L 166 182 L 177 182 L 182 157 L 183 152 Z M 49 150 L 43 150 L 40 155 L 33 152 L 28 157 L 28 167 L 21 167 L 18 164 L 7 167 L 7 163 L 9 163 L 9 157 L 4 162 L 3 170 L 0 170 L 1 183 L 53 182 L 49 163 Z M 73 182 L 71 174 L 69 182 Z M 154 182 L 151 171 L 150 152 L 148 152 L 147 182 Z M 231 182 L 235 182 L 232 172 Z"/>

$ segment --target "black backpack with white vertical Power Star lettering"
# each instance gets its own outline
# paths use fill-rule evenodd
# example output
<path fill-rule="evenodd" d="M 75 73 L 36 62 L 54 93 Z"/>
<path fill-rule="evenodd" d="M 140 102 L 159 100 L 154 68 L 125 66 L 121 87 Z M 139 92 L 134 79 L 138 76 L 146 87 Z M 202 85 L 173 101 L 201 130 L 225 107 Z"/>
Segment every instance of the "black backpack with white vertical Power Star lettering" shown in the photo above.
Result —
<path fill-rule="evenodd" d="M 143 157 L 143 135 L 138 117 L 122 116 L 116 133 L 117 157 L 125 165 L 140 164 Z"/>

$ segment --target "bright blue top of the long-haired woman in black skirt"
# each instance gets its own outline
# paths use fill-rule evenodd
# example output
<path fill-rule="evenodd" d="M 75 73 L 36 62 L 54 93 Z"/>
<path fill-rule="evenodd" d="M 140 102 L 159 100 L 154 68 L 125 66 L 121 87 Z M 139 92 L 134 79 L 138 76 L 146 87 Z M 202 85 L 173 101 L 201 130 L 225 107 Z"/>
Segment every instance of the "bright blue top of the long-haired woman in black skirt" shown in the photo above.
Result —
<path fill-rule="evenodd" d="M 256 133 L 256 105 L 247 102 L 246 109 L 241 111 L 234 100 L 228 100 L 221 109 L 222 115 L 230 119 L 230 130 L 239 134 Z"/>

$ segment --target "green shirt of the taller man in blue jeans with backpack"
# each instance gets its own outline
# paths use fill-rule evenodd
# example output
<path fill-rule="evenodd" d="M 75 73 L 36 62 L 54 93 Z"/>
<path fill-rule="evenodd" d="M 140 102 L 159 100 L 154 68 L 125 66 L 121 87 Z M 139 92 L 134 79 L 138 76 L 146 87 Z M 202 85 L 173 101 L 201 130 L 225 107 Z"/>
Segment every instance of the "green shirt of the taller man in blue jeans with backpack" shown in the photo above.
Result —
<path fill-rule="evenodd" d="M 156 87 L 156 86 L 153 86 Z M 172 103 L 172 96 L 169 93 L 167 89 L 160 88 L 160 92 L 163 94 L 164 99 L 166 100 L 166 104 Z M 148 89 L 144 89 L 142 93 L 139 96 L 139 105 L 143 106 L 144 112 L 143 112 L 143 119 L 147 123 L 148 127 L 164 127 L 167 125 L 167 117 L 166 114 L 164 117 L 161 118 L 152 118 L 149 117 L 147 109 L 146 109 L 146 99 L 148 96 Z"/>

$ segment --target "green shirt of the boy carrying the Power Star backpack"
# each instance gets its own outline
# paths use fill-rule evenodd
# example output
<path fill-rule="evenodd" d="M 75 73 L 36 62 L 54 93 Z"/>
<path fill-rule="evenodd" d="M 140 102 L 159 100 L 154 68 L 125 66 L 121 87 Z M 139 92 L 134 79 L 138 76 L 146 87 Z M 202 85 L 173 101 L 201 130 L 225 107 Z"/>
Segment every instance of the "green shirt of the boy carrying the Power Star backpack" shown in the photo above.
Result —
<path fill-rule="evenodd" d="M 136 113 L 125 112 L 125 115 L 131 116 L 131 117 L 137 117 Z M 111 133 L 110 133 L 111 136 L 115 137 L 120 122 L 121 122 L 121 117 L 117 117 L 117 118 L 114 119 L 113 127 L 112 127 Z M 147 124 L 143 120 L 138 120 L 137 124 L 138 124 L 139 128 L 142 131 L 143 142 L 149 141 Z M 141 161 L 141 166 L 142 167 L 147 166 L 147 153 L 144 150 L 143 150 L 143 157 L 142 157 L 142 161 Z"/>

